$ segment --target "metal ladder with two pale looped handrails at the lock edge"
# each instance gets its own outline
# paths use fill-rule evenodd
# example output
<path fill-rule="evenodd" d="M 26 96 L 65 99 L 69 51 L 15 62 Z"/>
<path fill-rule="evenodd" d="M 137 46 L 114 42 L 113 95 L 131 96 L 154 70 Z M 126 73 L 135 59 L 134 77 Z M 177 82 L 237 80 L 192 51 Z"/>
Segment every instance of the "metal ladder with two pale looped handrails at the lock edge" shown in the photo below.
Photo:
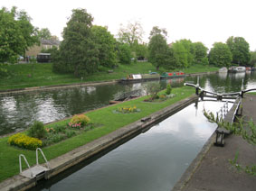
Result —
<path fill-rule="evenodd" d="M 38 150 L 41 151 L 41 154 L 43 156 L 43 159 L 45 160 L 46 162 L 46 166 L 47 168 L 39 165 L 39 162 L 38 162 Z M 28 164 L 28 161 L 27 159 L 25 158 L 24 154 L 20 154 L 19 155 L 19 163 L 20 163 L 20 175 L 21 176 L 24 176 L 24 177 L 29 177 L 29 178 L 33 178 L 33 177 L 36 177 L 37 179 L 40 179 L 42 177 L 45 177 L 45 172 L 48 171 L 50 169 L 49 167 L 49 163 L 47 161 L 47 159 L 45 158 L 44 154 L 43 154 L 43 150 L 41 150 L 40 148 L 37 148 L 35 150 L 35 155 L 36 155 L 36 165 L 31 168 Z M 24 170 L 23 171 L 23 168 L 22 168 L 22 158 L 24 158 L 24 161 L 28 167 L 28 169 Z"/>

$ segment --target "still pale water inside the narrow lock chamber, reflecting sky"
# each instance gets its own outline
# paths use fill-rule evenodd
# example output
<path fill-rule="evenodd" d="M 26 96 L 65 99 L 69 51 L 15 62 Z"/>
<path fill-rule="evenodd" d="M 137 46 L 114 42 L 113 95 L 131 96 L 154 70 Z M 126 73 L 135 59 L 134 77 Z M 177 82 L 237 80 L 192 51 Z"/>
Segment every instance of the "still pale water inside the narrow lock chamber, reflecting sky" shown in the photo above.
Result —
<path fill-rule="evenodd" d="M 189 105 L 90 165 L 33 190 L 171 190 L 216 128 L 205 119 L 203 108 L 215 114 L 221 106 L 222 102 Z"/>

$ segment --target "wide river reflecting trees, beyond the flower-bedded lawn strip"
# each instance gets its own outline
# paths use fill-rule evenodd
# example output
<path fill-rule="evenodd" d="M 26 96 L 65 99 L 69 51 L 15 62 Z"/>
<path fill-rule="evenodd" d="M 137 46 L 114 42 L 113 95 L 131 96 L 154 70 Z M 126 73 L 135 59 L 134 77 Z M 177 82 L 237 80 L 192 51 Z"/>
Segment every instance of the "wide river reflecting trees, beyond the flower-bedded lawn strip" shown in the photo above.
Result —
<path fill-rule="evenodd" d="M 196 83 L 197 77 L 174 78 L 160 81 L 183 86 L 184 82 Z M 243 82 L 243 85 L 242 85 Z M 26 129 L 33 121 L 50 123 L 73 114 L 109 105 L 109 100 L 122 92 L 142 89 L 148 83 L 129 85 L 79 86 L 33 93 L 0 96 L 0 135 Z M 214 74 L 200 77 L 200 86 L 214 92 L 236 92 L 241 87 L 256 87 L 256 73 Z"/>

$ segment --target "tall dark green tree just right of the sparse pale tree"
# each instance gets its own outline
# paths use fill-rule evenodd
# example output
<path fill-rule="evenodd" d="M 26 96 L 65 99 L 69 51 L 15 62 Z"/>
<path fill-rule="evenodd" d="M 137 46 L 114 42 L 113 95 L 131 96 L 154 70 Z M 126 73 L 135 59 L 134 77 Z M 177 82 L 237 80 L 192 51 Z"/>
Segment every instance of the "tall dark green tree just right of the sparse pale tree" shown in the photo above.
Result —
<path fill-rule="evenodd" d="M 150 32 L 148 44 L 148 60 L 156 66 L 158 70 L 161 66 L 166 66 L 168 62 L 168 45 L 166 42 L 166 30 L 161 30 L 158 27 L 153 27 Z"/>

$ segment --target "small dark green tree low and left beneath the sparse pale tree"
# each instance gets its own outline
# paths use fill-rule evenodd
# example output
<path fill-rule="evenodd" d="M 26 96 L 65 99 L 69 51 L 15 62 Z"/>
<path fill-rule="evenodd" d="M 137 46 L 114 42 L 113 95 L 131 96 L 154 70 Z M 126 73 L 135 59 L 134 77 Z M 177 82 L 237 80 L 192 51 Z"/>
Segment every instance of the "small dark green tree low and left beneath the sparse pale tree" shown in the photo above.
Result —
<path fill-rule="evenodd" d="M 128 44 L 121 44 L 118 45 L 118 56 L 119 56 L 119 62 L 122 64 L 130 64 L 132 55 L 131 50 Z"/>

